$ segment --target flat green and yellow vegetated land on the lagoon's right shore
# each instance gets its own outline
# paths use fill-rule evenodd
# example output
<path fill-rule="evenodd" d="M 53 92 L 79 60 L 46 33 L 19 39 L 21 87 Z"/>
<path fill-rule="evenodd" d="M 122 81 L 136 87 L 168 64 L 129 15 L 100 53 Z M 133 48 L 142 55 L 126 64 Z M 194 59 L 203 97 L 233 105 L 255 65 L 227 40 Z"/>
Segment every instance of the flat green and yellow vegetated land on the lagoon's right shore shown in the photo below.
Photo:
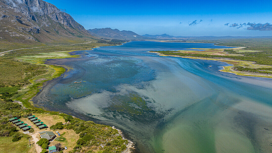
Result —
<path fill-rule="evenodd" d="M 149 51 L 160 56 L 176 56 L 218 60 L 233 66 L 224 66 L 222 72 L 236 75 L 272 78 L 272 38 L 237 39 L 213 41 L 189 41 L 201 43 L 215 43 L 222 46 L 241 46 L 228 49 L 188 48 L 179 51 Z M 168 41 L 168 42 L 171 42 Z M 177 42 L 177 41 L 174 41 Z"/>

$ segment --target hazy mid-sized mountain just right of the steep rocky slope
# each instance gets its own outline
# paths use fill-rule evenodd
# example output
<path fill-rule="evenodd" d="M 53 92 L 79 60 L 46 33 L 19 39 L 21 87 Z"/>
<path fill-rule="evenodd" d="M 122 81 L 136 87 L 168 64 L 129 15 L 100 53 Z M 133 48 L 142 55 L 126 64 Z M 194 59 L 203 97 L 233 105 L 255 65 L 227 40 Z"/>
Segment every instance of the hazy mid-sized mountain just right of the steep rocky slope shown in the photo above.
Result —
<path fill-rule="evenodd" d="M 108 39 L 121 39 L 121 40 L 132 40 L 132 39 L 143 39 L 144 36 L 138 35 L 132 31 L 118 30 L 111 28 L 102 28 L 102 29 L 89 29 L 89 33 L 98 38 L 108 38 Z"/>

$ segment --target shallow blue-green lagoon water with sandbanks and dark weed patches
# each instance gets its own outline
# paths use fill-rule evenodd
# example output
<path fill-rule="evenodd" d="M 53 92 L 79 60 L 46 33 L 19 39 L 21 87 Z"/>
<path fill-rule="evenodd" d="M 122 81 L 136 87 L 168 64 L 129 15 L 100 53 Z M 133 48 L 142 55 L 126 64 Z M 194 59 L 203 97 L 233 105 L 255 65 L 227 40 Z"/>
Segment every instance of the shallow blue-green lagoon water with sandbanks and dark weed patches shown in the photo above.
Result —
<path fill-rule="evenodd" d="M 72 68 L 33 98 L 40 107 L 116 126 L 137 152 L 272 152 L 272 79 L 218 71 L 212 60 L 147 51 L 228 48 L 132 41 L 73 51 Z M 82 83 L 73 83 L 81 81 Z"/>

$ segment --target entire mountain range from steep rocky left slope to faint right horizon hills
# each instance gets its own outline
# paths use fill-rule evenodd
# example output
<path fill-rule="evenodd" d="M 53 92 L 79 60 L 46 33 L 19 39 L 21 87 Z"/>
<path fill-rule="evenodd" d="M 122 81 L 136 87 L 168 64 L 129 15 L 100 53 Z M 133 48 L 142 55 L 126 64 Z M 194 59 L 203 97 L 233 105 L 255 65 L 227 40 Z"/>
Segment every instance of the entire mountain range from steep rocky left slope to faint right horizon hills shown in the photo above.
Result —
<path fill-rule="evenodd" d="M 42 0 L 0 0 L 0 41 L 15 43 L 67 43 L 81 39 L 240 39 L 271 36 L 171 36 L 138 35 L 111 28 L 86 30 L 69 14 Z"/>

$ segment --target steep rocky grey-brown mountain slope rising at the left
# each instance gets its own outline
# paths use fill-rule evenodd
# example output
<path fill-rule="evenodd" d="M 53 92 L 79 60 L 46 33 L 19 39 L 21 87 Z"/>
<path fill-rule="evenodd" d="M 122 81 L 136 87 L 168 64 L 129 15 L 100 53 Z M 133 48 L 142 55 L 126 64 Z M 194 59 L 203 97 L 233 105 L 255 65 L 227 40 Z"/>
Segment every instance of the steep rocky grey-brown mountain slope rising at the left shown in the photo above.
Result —
<path fill-rule="evenodd" d="M 0 0 L 0 40 L 52 43 L 94 37 L 69 14 L 42 0 Z"/>

